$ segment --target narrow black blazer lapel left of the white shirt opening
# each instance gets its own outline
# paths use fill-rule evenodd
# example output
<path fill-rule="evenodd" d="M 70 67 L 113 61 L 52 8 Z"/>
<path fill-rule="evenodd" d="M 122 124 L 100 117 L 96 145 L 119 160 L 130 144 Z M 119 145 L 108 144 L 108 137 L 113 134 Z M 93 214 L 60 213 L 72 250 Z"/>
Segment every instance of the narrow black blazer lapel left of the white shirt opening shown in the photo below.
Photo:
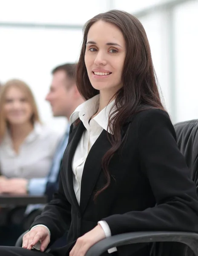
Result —
<path fill-rule="evenodd" d="M 69 195 L 71 196 L 72 202 L 77 210 L 79 210 L 79 205 L 74 192 L 72 160 L 75 154 L 77 144 L 79 143 L 84 130 L 85 127 L 83 123 L 80 122 L 70 134 L 69 144 L 66 149 L 66 186 L 69 190 Z"/>

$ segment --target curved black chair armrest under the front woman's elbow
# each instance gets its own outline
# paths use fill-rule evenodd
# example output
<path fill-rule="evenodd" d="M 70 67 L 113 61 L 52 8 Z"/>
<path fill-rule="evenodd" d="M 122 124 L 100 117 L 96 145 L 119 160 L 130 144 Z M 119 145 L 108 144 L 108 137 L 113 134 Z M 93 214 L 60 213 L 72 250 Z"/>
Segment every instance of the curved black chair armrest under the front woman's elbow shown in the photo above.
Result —
<path fill-rule="evenodd" d="M 100 256 L 112 247 L 148 242 L 181 242 L 187 244 L 198 256 L 198 234 L 175 231 L 131 232 L 111 236 L 94 244 L 85 256 Z"/>

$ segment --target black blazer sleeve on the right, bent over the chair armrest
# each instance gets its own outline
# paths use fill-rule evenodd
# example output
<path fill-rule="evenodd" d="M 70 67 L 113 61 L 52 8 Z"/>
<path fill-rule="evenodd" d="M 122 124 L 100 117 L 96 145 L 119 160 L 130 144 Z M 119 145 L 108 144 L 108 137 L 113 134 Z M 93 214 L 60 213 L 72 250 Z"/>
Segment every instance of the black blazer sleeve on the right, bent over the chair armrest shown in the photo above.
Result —
<path fill-rule="evenodd" d="M 143 111 L 137 126 L 140 172 L 148 178 L 156 206 L 103 220 L 112 235 L 157 230 L 198 232 L 195 184 L 178 149 L 168 114 L 156 109 Z"/>

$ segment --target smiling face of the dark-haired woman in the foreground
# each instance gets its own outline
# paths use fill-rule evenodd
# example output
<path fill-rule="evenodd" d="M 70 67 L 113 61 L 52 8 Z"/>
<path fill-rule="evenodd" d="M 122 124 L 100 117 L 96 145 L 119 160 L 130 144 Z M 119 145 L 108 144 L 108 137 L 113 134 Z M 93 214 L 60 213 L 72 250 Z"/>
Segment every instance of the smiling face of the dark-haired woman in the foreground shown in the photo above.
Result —
<path fill-rule="evenodd" d="M 122 87 L 121 75 L 125 56 L 125 40 L 117 26 L 99 20 L 90 27 L 85 65 L 95 89 L 114 94 Z"/>

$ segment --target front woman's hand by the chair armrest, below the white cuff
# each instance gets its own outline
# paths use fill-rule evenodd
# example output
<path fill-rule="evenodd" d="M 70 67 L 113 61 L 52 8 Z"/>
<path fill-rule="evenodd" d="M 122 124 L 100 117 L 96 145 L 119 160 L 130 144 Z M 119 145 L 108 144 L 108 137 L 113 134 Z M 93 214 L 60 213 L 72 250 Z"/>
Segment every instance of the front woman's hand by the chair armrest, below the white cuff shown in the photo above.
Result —
<path fill-rule="evenodd" d="M 84 256 L 92 245 L 105 237 L 103 228 L 98 224 L 94 229 L 77 239 L 75 246 L 69 253 L 69 256 Z"/>

